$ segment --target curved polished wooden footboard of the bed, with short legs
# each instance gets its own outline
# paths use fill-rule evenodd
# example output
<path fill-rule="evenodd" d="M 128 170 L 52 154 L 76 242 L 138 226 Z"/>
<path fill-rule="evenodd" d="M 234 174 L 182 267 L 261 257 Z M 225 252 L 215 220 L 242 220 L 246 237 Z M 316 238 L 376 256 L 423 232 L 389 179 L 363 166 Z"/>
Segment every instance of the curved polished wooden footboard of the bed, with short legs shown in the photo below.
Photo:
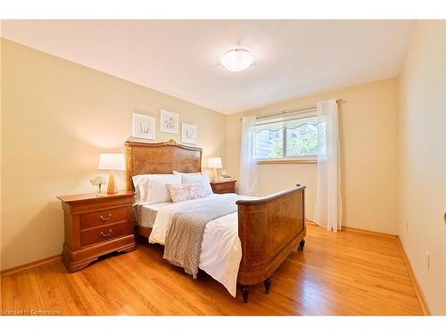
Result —
<path fill-rule="evenodd" d="M 238 236 L 242 241 L 242 261 L 237 282 L 245 302 L 249 285 L 265 283 L 290 253 L 304 244 L 306 234 L 304 210 L 305 186 L 262 197 L 238 200 Z"/>

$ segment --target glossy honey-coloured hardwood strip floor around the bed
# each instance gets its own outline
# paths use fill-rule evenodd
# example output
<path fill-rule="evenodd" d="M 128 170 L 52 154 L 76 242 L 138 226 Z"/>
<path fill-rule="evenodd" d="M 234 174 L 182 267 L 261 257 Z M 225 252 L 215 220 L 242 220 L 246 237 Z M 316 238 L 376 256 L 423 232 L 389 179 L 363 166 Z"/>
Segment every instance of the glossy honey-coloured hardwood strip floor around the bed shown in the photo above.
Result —
<path fill-rule="evenodd" d="M 107 256 L 68 273 L 46 264 L 2 278 L 2 311 L 75 315 L 421 315 L 394 237 L 328 232 L 308 225 L 303 252 L 272 277 L 270 293 L 252 288 L 244 304 L 204 272 L 198 280 L 162 260 L 162 248 Z"/>

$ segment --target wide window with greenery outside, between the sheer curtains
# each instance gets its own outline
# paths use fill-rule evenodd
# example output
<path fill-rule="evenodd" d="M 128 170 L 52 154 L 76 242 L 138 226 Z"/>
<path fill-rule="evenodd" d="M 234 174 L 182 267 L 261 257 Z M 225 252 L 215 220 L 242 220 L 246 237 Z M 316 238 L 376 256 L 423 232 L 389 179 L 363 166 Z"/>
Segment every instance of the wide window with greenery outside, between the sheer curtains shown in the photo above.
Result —
<path fill-rule="evenodd" d="M 325 152 L 326 122 L 315 112 L 299 113 L 256 124 L 258 161 L 315 159 Z"/>

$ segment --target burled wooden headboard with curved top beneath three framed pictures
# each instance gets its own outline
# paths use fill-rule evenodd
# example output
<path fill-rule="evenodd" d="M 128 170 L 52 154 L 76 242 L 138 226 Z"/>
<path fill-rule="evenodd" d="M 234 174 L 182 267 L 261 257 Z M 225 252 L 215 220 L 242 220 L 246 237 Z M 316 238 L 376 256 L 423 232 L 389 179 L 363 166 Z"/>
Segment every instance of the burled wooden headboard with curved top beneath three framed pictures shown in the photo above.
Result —
<path fill-rule="evenodd" d="M 172 171 L 202 172 L 202 148 L 169 142 L 126 142 L 127 189 L 134 190 L 137 174 L 168 174 Z"/>

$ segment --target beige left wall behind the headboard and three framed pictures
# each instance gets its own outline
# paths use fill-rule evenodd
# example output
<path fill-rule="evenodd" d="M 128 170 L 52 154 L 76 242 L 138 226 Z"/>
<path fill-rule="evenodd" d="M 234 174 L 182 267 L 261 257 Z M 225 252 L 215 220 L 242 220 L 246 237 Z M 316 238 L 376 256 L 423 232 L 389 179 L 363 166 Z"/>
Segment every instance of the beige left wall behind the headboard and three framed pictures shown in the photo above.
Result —
<path fill-rule="evenodd" d="M 136 108 L 156 116 L 157 130 L 161 108 L 179 113 L 197 125 L 204 158 L 225 159 L 223 114 L 10 41 L 2 47 L 3 269 L 61 253 L 56 197 L 95 190 L 98 155 L 123 152 Z M 169 138 L 179 141 L 156 136 Z"/>

